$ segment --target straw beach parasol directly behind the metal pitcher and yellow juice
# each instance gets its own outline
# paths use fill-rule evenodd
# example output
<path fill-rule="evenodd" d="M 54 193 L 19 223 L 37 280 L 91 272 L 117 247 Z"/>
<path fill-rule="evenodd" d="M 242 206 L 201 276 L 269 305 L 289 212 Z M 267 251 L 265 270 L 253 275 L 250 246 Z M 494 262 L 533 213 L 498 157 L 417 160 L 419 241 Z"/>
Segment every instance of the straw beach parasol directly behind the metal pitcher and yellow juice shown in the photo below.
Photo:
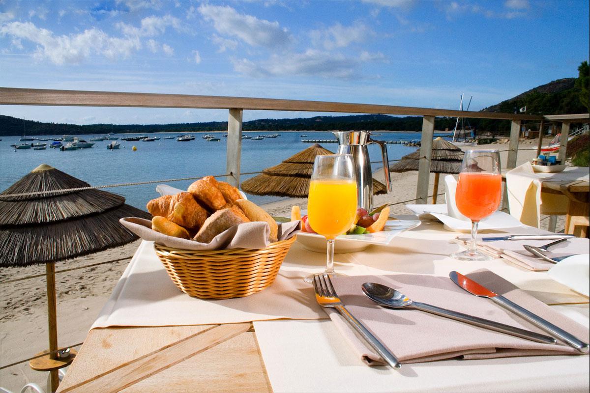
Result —
<path fill-rule="evenodd" d="M 258 176 L 242 182 L 242 190 L 253 195 L 303 198 L 309 194 L 313 161 L 321 154 L 334 154 L 319 144 L 301 150 L 280 164 L 264 169 Z M 386 193 L 385 184 L 373 180 L 373 194 Z"/>

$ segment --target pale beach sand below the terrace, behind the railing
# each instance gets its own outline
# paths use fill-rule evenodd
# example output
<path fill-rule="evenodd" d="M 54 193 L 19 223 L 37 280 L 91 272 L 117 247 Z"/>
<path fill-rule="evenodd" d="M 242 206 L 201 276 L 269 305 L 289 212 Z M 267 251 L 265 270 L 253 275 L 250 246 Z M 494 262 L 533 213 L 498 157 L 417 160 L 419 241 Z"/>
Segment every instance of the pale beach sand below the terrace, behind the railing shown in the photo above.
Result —
<path fill-rule="evenodd" d="M 478 148 L 497 148 L 507 150 L 507 144 L 491 144 Z M 520 143 L 517 164 L 520 165 L 535 157 L 536 140 Z M 507 152 L 503 151 L 501 161 L 506 163 Z M 383 171 L 375 171 L 375 178 L 383 181 Z M 441 176 L 439 193 L 444 193 L 444 181 Z M 396 203 L 412 199 L 416 193 L 417 171 L 392 173 L 394 192 L 379 195 L 373 204 L 380 206 L 385 203 Z M 430 177 L 432 194 L 434 175 Z M 444 203 L 444 196 L 438 197 L 438 203 Z M 412 202 L 408 202 L 412 203 Z M 429 199 L 429 203 L 431 200 Z M 274 216 L 290 216 L 291 206 L 306 205 L 306 199 L 284 199 L 264 205 Z M 391 207 L 391 214 L 410 214 L 404 204 Z M 543 223 L 546 227 L 548 220 Z M 563 229 L 563 217 L 558 220 L 558 229 Z M 74 345 L 83 342 L 88 329 L 99 314 L 100 309 L 109 298 L 114 286 L 137 249 L 140 240 L 128 245 L 80 257 L 73 260 L 58 262 L 57 270 L 57 301 L 58 301 L 58 343 L 60 346 Z M 115 259 L 119 262 L 84 267 L 59 273 L 60 270 L 72 269 L 94 263 Z M 0 348 L 1 364 L 11 364 L 30 358 L 48 348 L 47 338 L 47 295 L 45 289 L 45 267 L 12 267 L 0 273 Z M 41 275 L 38 278 L 4 283 L 25 276 Z M 74 347 L 76 348 L 76 347 Z M 78 349 L 78 348 L 76 348 Z M 45 388 L 47 373 L 33 371 L 28 362 L 21 363 L 0 371 L 0 386 L 18 392 L 28 382 L 35 382 Z"/>

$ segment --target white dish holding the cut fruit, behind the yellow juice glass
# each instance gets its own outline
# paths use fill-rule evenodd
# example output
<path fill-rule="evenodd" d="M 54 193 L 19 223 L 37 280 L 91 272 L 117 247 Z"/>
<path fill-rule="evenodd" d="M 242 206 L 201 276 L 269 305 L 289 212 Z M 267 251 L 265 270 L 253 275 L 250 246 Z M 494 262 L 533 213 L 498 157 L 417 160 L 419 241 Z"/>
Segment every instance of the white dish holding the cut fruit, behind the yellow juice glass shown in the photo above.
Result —
<path fill-rule="evenodd" d="M 382 231 L 366 235 L 340 235 L 334 243 L 335 253 L 357 252 L 370 245 L 386 246 L 400 233 L 419 226 L 418 220 L 388 220 Z M 297 242 L 310 251 L 326 252 L 326 238 L 317 233 L 299 232 Z"/>

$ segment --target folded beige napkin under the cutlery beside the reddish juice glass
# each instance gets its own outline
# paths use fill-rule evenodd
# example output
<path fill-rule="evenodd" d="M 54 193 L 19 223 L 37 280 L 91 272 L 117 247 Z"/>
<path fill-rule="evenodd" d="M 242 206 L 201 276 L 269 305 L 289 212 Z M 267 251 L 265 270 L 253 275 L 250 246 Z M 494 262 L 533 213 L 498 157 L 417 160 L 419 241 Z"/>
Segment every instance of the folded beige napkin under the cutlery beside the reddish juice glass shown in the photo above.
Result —
<path fill-rule="evenodd" d="M 507 236 L 507 235 L 506 235 Z M 481 237 L 479 238 L 481 239 Z M 467 245 L 470 240 L 464 238 L 457 239 L 458 243 Z M 494 258 L 502 258 L 515 265 L 524 267 L 529 270 L 544 271 L 549 270 L 555 263 L 551 263 L 538 256 L 532 255 L 525 250 L 524 245 L 540 247 L 547 243 L 555 242 L 555 240 L 497 240 L 495 242 L 482 242 L 478 240 L 477 248 L 481 252 Z M 549 247 L 549 252 L 545 255 L 548 257 L 559 257 L 572 254 L 586 254 L 590 247 L 590 240 L 581 237 L 572 237 L 566 242 Z"/>

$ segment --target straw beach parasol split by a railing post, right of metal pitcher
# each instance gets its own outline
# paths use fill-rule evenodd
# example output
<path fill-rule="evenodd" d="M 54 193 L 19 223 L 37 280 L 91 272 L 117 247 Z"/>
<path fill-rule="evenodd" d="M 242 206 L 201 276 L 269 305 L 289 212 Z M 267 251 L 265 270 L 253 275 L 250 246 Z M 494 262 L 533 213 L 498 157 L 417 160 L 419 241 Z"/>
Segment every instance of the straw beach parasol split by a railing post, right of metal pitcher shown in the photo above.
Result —
<path fill-rule="evenodd" d="M 441 137 L 432 141 L 432 156 L 430 159 L 430 171 L 434 173 L 434 192 L 432 203 L 437 203 L 438 178 L 441 173 L 459 173 L 461 162 L 465 153 L 459 147 Z M 401 161 L 389 167 L 392 172 L 405 172 L 418 170 L 420 162 L 420 149 L 414 153 L 402 157 Z"/>

